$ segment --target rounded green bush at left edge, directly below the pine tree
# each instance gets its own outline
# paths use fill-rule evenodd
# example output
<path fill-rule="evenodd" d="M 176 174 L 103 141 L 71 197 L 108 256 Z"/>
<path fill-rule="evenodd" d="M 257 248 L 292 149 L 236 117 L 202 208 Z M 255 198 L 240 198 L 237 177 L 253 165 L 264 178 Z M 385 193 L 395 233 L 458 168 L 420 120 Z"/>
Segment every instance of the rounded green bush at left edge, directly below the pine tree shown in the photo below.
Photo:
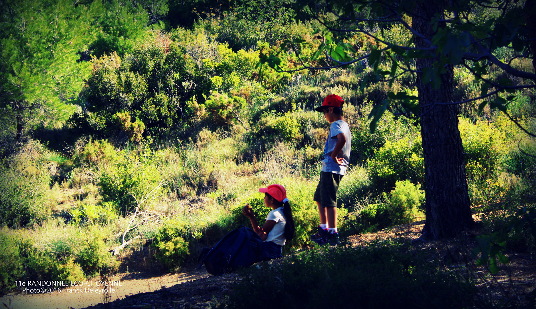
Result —
<path fill-rule="evenodd" d="M 48 210 L 50 175 L 35 166 L 18 171 L 0 163 L 0 225 L 25 227 L 41 222 Z"/>

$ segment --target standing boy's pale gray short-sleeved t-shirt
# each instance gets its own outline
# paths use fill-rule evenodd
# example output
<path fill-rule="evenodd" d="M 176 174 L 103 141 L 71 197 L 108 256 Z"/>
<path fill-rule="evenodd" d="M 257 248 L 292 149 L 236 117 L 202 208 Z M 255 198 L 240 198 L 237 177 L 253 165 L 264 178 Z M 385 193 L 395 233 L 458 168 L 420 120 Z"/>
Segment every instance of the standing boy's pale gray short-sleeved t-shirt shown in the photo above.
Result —
<path fill-rule="evenodd" d="M 339 165 L 331 159 L 331 153 L 339 140 L 337 135 L 343 133 L 346 137 L 346 144 L 337 157 L 343 158 L 343 164 Z M 330 133 L 327 134 L 326 146 L 324 147 L 324 155 L 322 157 L 322 171 L 332 172 L 334 174 L 344 175 L 346 174 L 346 168 L 348 167 L 348 162 L 350 161 L 350 147 L 352 145 L 352 133 L 348 124 L 344 120 L 337 120 L 333 122 L 330 126 Z"/>

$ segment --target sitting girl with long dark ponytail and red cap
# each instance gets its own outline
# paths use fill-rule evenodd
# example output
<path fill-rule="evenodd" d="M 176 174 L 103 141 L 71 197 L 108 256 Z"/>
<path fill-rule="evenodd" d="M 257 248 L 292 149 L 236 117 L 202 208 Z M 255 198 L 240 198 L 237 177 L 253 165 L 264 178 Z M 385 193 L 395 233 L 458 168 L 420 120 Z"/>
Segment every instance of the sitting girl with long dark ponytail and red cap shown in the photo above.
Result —
<path fill-rule="evenodd" d="M 294 237 L 294 219 L 292 209 L 288 204 L 287 191 L 282 185 L 270 185 L 260 188 L 263 192 L 264 205 L 273 210 L 266 217 L 266 222 L 260 228 L 249 205 L 242 208 L 244 216 L 249 217 L 253 230 L 264 240 L 261 261 L 281 258 L 282 246 L 287 239 Z"/>

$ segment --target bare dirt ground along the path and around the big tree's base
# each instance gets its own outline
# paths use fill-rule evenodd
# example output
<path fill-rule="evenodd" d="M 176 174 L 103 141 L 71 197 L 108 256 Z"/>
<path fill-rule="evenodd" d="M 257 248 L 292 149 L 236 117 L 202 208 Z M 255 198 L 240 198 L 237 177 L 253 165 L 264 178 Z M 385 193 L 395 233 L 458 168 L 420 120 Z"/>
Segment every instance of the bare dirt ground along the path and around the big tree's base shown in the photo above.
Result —
<path fill-rule="evenodd" d="M 367 246 L 374 240 L 412 242 L 415 250 L 426 252 L 438 267 L 470 272 L 476 281 L 478 297 L 496 302 L 526 304 L 525 296 L 536 288 L 536 263 L 524 254 L 509 255 L 510 262 L 501 265 L 492 276 L 483 267 L 474 265 L 471 250 L 477 245 L 475 236 L 481 233 L 478 218 L 475 229 L 458 237 L 423 241 L 420 233 L 424 221 L 384 229 L 375 233 L 349 236 L 341 245 Z M 526 255 L 526 254 L 525 254 Z M 281 259 L 284 260 L 284 259 Z M 50 293 L 37 295 L 11 294 L 1 299 L 6 308 L 210 308 L 221 303 L 233 283 L 241 280 L 237 274 L 211 276 L 203 269 L 186 269 L 178 274 L 147 276 L 144 273 L 120 274 L 106 280 L 122 280 L 121 289 L 107 295 L 94 293 Z"/>

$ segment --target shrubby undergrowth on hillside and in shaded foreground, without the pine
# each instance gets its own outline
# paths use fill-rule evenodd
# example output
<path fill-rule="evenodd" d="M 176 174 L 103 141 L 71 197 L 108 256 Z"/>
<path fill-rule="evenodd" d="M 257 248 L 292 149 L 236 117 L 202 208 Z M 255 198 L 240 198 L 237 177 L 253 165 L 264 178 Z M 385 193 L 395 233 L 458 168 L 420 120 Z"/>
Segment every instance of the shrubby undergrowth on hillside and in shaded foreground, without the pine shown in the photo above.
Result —
<path fill-rule="evenodd" d="M 389 91 L 416 95 L 411 76 L 391 87 L 378 82 L 360 88 L 372 75 L 367 61 L 293 74 L 259 69 L 259 55 L 285 38 L 319 44 L 310 33 L 321 25 L 313 19 L 287 25 L 278 15 L 274 22 L 279 24 L 273 26 L 278 39 L 266 39 L 266 33 L 252 32 L 255 27 L 245 32 L 252 26 L 244 26 L 240 10 L 235 10 L 225 17 L 222 11 L 206 13 L 189 28 L 147 26 L 144 35 L 122 49 L 111 49 L 106 41 L 110 36 L 102 34 L 100 43 L 88 49 L 94 52 L 88 62 L 91 74 L 70 102 L 69 115 L 53 122 L 39 120 L 46 115 L 36 112 L 35 122 L 19 139 L 14 126 L 3 126 L 0 293 L 16 291 L 19 280 L 74 281 L 132 270 L 136 263 L 129 257 L 144 250 L 151 252 L 156 268 L 178 272 L 196 262 L 203 246 L 249 225 L 241 213 L 244 204 L 264 218 L 269 209 L 258 188 L 278 183 L 287 189 L 296 235 L 284 246 L 288 262 L 273 270 L 277 276 L 255 269 L 248 275 L 258 285 L 256 291 L 270 290 L 289 308 L 333 306 L 335 295 L 337 306 L 354 302 L 347 297 L 351 295 L 378 307 L 375 302 L 385 300 L 387 293 L 391 303 L 383 305 L 475 305 L 474 282 L 429 265 L 407 244 L 319 249 L 309 239 L 319 224 L 312 195 L 329 130 L 314 107 L 329 94 L 345 100 L 344 117 L 352 131 L 350 166 L 338 193 L 341 236 L 425 217 L 418 120 L 388 112 L 370 133 L 367 118 Z M 393 42 L 411 36 L 401 28 L 381 35 Z M 358 53 L 375 44 L 359 35 L 345 40 Z M 301 52 L 305 57 L 312 49 Z M 494 52 L 512 57 L 505 48 Z M 512 61 L 530 68 L 529 62 Z M 292 68 L 296 63 L 289 55 L 282 65 Z M 457 100 L 478 96 L 481 81 L 463 66 L 454 72 Z M 490 72 L 496 78 L 493 74 L 500 71 Z M 512 85 L 522 83 L 504 78 Z M 536 93 L 513 95 L 517 99 L 508 105 L 509 114 L 534 132 Z M 500 111 L 486 107 L 479 114 L 480 103 L 460 105 L 458 127 L 472 212 L 481 216 L 483 233 L 493 235 L 519 209 L 534 207 L 536 145 Z M 535 240 L 525 223 L 509 230 L 505 246 L 532 259 Z M 330 284 L 323 267 L 343 287 L 327 298 L 316 292 L 321 287 L 311 287 Z M 268 289 L 263 284 L 274 282 L 264 281 L 266 277 L 285 284 Z M 362 287 L 358 296 L 347 290 L 355 286 Z M 418 290 L 422 293 L 414 293 Z M 257 295 L 250 304 L 236 291 L 238 298 L 230 300 L 230 307 L 257 306 L 261 299 Z"/>

